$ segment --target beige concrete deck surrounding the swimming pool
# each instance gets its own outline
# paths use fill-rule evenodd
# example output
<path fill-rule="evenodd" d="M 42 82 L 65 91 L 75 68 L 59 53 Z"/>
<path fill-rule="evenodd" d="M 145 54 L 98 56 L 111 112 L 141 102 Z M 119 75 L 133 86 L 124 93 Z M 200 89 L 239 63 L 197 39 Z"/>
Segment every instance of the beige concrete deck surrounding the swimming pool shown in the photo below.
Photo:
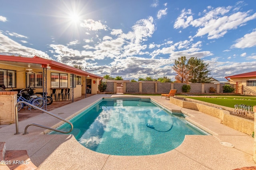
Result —
<path fill-rule="evenodd" d="M 128 95 L 97 94 L 50 112 L 67 118 L 102 97 L 128 97 Z M 40 170 L 233 170 L 256 166 L 253 161 L 254 138 L 251 136 L 220 124 L 220 120 L 215 117 L 176 106 L 161 96 L 138 97 L 151 98 L 172 111 L 182 111 L 190 115 L 191 117 L 186 117 L 188 121 L 198 123 L 212 135 L 187 135 L 179 147 L 163 154 L 115 156 L 86 149 L 72 135 L 44 135 L 42 132 L 45 129 L 40 127 L 30 126 L 29 133 L 22 135 L 24 128 L 30 123 L 53 127 L 60 122 L 59 119 L 43 113 L 20 121 L 19 135 L 14 135 L 15 124 L 0 128 L 0 142 L 6 143 L 6 150 L 27 150 L 30 160 Z M 231 143 L 234 147 L 227 147 L 221 142 Z"/>

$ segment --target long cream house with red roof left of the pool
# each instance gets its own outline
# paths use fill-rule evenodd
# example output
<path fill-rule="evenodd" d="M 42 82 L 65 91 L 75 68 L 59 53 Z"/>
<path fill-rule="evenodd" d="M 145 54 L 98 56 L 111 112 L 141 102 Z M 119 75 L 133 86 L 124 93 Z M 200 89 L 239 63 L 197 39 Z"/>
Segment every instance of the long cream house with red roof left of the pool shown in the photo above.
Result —
<path fill-rule="evenodd" d="M 0 84 L 6 90 L 34 88 L 34 92 L 52 93 L 52 89 L 72 89 L 72 99 L 82 94 L 97 94 L 103 77 L 38 56 L 0 55 Z M 90 90 L 88 90 L 90 89 Z"/>

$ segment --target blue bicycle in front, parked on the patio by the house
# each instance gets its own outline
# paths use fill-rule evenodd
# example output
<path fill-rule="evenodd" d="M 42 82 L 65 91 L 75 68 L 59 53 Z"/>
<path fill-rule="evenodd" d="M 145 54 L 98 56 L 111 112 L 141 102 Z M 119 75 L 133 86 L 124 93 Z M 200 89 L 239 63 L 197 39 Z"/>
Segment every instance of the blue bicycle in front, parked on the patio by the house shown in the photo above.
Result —
<path fill-rule="evenodd" d="M 40 107 L 42 108 L 44 106 L 44 100 L 43 98 L 38 98 L 36 95 L 33 96 L 25 96 L 26 93 L 23 92 L 25 89 L 20 90 L 20 93 L 17 95 L 17 102 L 20 101 L 24 101 L 24 102 L 28 102 L 34 106 Z M 23 95 L 23 96 L 22 96 Z M 18 111 L 20 111 L 20 109 L 24 108 L 24 106 L 26 106 L 26 104 L 20 103 L 17 106 Z M 31 107 L 29 106 L 29 108 L 31 109 Z M 36 109 L 36 107 L 33 107 L 34 109 Z"/>

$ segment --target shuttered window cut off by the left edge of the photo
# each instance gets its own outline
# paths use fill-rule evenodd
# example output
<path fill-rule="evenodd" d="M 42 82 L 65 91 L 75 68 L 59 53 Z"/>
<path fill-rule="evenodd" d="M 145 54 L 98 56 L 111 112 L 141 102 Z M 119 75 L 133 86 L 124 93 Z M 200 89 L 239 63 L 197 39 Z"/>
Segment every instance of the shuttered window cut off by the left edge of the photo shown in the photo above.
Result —
<path fill-rule="evenodd" d="M 16 87 L 15 71 L 0 69 L 0 84 L 4 84 L 6 88 Z"/>

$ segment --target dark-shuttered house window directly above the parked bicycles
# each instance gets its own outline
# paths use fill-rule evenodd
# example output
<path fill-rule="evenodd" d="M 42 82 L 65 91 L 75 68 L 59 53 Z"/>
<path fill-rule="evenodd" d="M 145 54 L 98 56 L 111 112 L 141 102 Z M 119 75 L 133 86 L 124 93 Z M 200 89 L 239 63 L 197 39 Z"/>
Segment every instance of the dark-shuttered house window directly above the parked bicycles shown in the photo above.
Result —
<path fill-rule="evenodd" d="M 42 88 L 43 87 L 43 75 L 42 72 L 38 73 L 26 73 L 27 87 Z"/>

